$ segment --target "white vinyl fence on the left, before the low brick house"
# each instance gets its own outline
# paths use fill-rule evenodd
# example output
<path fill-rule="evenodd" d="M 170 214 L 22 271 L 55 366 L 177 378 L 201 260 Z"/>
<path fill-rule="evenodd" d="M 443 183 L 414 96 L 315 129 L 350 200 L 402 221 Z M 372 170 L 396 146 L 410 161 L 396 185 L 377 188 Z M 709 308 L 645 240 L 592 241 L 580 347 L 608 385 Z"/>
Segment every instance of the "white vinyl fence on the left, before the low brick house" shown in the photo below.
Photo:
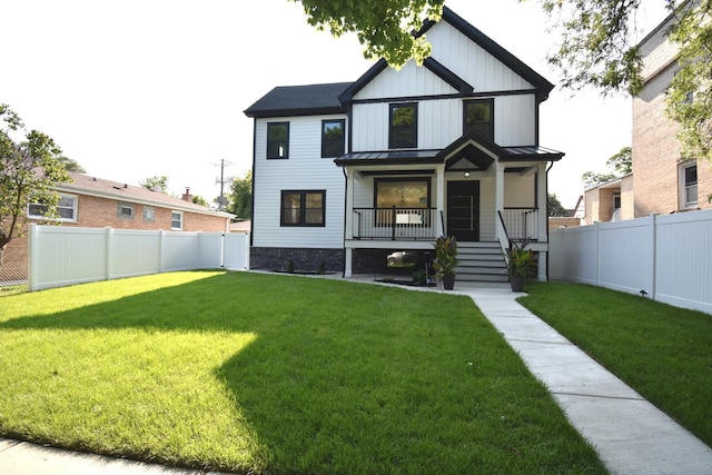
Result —
<path fill-rule="evenodd" d="M 246 269 L 249 235 L 30 225 L 29 290 L 192 269 Z"/>

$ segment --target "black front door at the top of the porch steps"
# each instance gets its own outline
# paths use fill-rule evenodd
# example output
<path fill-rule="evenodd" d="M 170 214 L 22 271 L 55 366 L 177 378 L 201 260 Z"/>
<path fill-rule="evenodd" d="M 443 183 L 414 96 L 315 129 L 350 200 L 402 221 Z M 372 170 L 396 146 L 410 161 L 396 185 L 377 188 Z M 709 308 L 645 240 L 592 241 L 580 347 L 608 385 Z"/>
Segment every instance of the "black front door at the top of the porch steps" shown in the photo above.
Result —
<path fill-rule="evenodd" d="M 479 240 L 479 181 L 447 182 L 447 234 L 457 240 Z"/>

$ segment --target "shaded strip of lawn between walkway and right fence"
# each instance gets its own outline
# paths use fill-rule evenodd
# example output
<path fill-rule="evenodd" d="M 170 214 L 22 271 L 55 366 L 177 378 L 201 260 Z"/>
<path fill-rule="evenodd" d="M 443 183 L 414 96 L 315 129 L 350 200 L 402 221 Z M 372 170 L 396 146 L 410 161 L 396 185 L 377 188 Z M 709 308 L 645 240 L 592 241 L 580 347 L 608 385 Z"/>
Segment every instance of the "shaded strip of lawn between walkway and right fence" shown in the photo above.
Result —
<path fill-rule="evenodd" d="M 518 301 L 712 446 L 712 315 L 576 284 Z"/>

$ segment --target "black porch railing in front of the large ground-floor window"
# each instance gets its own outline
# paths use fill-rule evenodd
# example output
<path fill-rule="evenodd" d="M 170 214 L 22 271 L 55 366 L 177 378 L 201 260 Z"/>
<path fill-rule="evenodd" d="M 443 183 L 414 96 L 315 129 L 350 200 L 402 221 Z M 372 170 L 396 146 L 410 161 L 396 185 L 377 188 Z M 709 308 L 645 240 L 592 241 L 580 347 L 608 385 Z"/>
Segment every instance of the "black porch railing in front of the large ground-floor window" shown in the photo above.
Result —
<path fill-rule="evenodd" d="M 354 208 L 354 239 L 432 240 L 437 236 L 435 208 Z"/>

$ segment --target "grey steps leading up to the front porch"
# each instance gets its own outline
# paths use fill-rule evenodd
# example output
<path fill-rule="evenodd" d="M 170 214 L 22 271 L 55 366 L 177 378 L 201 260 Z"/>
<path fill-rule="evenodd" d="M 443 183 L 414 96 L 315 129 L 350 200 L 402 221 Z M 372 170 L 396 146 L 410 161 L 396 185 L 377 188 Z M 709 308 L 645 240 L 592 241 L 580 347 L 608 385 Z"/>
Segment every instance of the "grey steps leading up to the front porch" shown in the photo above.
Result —
<path fill-rule="evenodd" d="M 457 243 L 458 280 L 506 283 L 507 267 L 500 243 Z"/>

